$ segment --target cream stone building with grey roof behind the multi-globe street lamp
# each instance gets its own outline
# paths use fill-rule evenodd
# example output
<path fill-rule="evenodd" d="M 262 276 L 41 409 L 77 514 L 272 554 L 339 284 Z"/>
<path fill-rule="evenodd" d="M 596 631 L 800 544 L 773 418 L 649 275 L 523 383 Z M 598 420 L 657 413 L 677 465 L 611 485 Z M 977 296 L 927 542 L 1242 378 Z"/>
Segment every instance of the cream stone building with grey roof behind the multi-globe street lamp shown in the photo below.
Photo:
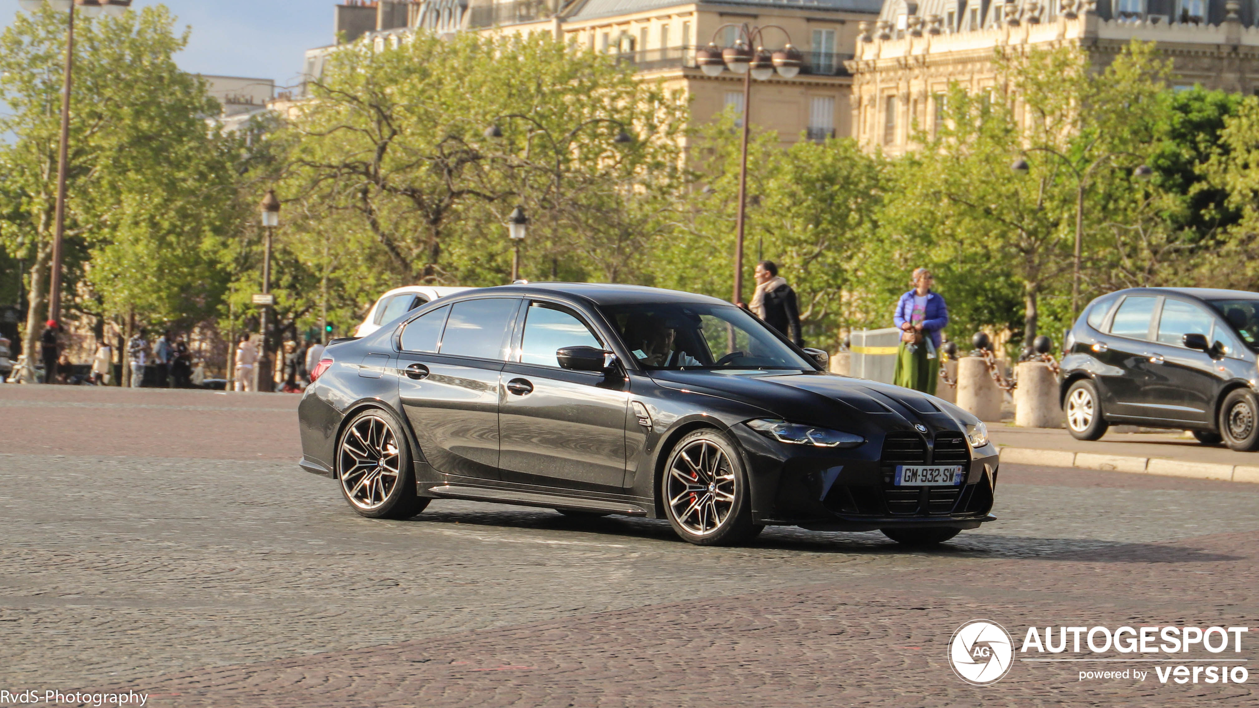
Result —
<path fill-rule="evenodd" d="M 379 48 L 402 41 L 418 28 L 438 35 L 458 31 L 545 31 L 633 64 L 645 80 L 685 93 L 696 121 L 708 121 L 728 106 L 743 113 L 743 78 L 725 72 L 706 77 L 695 50 L 715 41 L 728 47 L 729 23 L 779 25 L 765 30 L 765 45 L 791 41 L 805 54 L 805 67 L 791 79 L 777 74 L 754 82 L 752 124 L 778 131 L 783 143 L 801 137 L 822 140 L 851 133 L 849 96 L 852 77 L 845 65 L 857 43 L 857 25 L 872 24 L 881 0 L 346 0 L 336 11 L 340 41 L 370 41 Z M 311 49 L 306 74 L 320 75 L 337 45 Z"/>

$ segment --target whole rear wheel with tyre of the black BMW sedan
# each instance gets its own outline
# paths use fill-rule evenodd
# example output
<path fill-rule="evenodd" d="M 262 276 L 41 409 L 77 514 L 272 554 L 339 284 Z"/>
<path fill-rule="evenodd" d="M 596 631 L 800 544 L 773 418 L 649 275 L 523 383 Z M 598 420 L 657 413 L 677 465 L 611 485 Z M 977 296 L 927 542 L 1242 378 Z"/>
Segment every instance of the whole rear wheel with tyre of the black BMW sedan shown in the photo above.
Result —
<path fill-rule="evenodd" d="M 336 475 L 354 511 L 368 518 L 410 518 L 428 499 L 415 494 L 407 436 L 392 415 L 370 409 L 345 426 L 336 448 Z"/>

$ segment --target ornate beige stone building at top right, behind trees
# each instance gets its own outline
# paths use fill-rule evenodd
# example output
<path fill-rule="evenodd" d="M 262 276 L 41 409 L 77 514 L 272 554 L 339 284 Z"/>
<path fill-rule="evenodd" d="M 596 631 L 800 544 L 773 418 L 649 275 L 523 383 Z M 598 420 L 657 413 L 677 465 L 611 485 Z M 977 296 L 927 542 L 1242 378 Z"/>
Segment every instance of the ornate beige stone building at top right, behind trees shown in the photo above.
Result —
<path fill-rule="evenodd" d="M 996 83 L 996 50 L 1083 47 L 1098 65 L 1133 39 L 1172 59 L 1175 87 L 1259 89 L 1256 0 L 886 0 L 859 25 L 852 137 L 867 150 L 910 150 L 914 126 L 934 130 L 951 82 L 971 93 Z"/>

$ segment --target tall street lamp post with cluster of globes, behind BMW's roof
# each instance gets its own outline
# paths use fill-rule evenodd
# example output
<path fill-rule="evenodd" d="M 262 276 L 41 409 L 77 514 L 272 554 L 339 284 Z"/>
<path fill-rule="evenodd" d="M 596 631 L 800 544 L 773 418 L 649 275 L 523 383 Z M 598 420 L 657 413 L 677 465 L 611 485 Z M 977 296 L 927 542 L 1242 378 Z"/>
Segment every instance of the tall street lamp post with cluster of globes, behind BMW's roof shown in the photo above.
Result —
<path fill-rule="evenodd" d="M 716 34 L 728 26 L 737 28 L 739 38 L 731 47 L 718 49 Z M 771 28 L 787 35 L 787 44 L 777 52 L 769 52 L 760 45 L 762 33 Z M 757 47 L 755 52 L 752 50 L 753 45 Z M 739 158 L 739 211 L 734 226 L 733 298 L 733 302 L 739 303 L 743 302 L 743 234 L 748 209 L 748 135 L 752 114 L 752 79 L 767 80 L 774 75 L 774 70 L 784 79 L 793 78 L 799 73 L 803 57 L 798 49 L 791 45 L 791 34 L 778 25 L 749 26 L 748 24 L 726 23 L 716 28 L 716 31 L 713 33 L 713 41 L 706 48 L 695 53 L 695 63 L 709 77 L 719 77 L 724 69 L 743 74 L 743 135 Z"/>

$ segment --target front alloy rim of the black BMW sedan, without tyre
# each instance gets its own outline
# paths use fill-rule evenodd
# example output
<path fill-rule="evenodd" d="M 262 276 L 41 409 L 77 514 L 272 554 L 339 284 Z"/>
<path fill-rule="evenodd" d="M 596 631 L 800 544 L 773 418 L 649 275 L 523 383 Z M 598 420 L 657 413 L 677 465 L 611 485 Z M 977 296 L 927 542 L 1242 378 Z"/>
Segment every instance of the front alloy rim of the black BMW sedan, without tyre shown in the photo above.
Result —
<path fill-rule="evenodd" d="M 734 468 L 725 453 L 700 439 L 674 456 L 665 493 L 677 523 L 696 536 L 708 536 L 734 511 Z"/>

